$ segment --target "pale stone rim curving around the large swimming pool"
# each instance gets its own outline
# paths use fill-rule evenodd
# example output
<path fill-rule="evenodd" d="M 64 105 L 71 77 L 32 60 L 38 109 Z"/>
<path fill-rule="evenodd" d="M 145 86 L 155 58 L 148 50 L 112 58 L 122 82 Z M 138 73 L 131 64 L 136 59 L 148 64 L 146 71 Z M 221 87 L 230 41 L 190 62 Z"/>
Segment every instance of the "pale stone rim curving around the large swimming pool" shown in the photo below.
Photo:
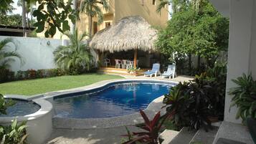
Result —
<path fill-rule="evenodd" d="M 169 85 L 177 85 L 178 82 L 166 81 L 166 80 L 107 80 L 102 82 L 97 82 L 94 85 L 88 85 L 85 87 L 80 87 L 72 90 L 65 90 L 59 92 L 52 92 L 43 97 L 44 99 L 52 102 L 54 107 L 54 99 L 60 97 L 72 97 L 72 95 L 80 95 L 83 93 L 93 93 L 103 90 L 110 85 L 115 85 L 125 82 L 152 82 L 152 83 L 163 83 Z M 144 112 L 149 117 L 153 117 L 156 112 L 161 110 L 161 114 L 164 114 L 165 110 L 162 110 L 163 106 L 163 96 L 153 100 L 148 107 L 146 107 Z M 117 117 L 103 117 L 103 118 L 69 118 L 69 117 L 53 117 L 53 127 L 54 128 L 70 128 L 70 129 L 89 129 L 89 128 L 113 128 L 123 125 L 136 125 L 138 123 L 143 123 L 143 119 L 138 112 L 130 115 L 123 115 Z M 68 123 L 68 125 L 67 125 Z"/>

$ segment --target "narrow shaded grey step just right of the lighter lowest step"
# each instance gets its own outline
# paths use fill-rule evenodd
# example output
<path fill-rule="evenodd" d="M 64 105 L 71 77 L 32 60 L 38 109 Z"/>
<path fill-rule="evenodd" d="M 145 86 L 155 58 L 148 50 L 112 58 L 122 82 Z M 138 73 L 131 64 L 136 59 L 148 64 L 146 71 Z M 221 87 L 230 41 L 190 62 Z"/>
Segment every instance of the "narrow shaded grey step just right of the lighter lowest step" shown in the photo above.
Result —
<path fill-rule="evenodd" d="M 196 134 L 196 130 L 189 130 L 189 128 L 182 128 L 178 135 L 176 135 L 169 144 L 189 144 L 191 139 Z"/>

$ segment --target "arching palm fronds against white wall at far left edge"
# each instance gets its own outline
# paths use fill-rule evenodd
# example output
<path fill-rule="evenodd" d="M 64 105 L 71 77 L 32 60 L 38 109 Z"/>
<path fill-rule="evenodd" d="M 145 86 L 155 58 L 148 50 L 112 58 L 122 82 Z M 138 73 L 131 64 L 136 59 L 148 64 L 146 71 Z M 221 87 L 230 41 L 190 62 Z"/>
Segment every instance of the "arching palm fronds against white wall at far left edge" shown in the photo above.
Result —
<path fill-rule="evenodd" d="M 7 49 L 11 48 L 9 45 L 10 43 L 14 44 L 13 40 L 11 38 L 6 38 L 0 42 L 0 69 L 7 69 L 10 67 L 9 62 L 14 62 L 15 57 L 19 58 L 19 60 L 22 61 L 22 57 L 16 53 L 16 46 L 15 50 L 12 52 L 8 52 Z"/>

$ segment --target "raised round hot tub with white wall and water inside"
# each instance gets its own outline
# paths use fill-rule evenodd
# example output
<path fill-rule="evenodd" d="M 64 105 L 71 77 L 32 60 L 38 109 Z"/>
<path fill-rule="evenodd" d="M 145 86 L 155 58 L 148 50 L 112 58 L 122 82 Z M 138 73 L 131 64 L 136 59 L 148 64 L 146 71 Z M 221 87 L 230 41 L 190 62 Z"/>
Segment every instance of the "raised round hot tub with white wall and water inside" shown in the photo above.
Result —
<path fill-rule="evenodd" d="M 47 100 L 28 100 L 24 96 L 6 96 L 15 104 L 8 107 L 7 115 L 0 115 L 1 125 L 10 125 L 16 119 L 18 122 L 27 121 L 29 143 L 44 143 L 52 133 L 52 104 Z"/>

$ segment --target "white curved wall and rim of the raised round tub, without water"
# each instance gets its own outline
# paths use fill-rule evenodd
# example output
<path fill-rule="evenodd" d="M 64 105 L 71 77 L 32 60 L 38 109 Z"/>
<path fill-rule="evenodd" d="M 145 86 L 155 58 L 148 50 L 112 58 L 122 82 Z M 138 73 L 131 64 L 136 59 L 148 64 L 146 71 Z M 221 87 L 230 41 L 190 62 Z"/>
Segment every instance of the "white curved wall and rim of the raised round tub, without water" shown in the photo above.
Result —
<path fill-rule="evenodd" d="M 21 95 L 5 96 L 7 98 L 14 98 L 17 100 L 28 100 L 28 97 Z M 40 109 L 29 115 L 16 117 L 0 117 L 1 125 L 10 125 L 14 119 L 18 122 L 27 121 L 26 128 L 29 134 L 27 140 L 32 144 L 42 144 L 49 138 L 52 133 L 52 104 L 47 100 L 36 99 L 32 100 Z"/>

